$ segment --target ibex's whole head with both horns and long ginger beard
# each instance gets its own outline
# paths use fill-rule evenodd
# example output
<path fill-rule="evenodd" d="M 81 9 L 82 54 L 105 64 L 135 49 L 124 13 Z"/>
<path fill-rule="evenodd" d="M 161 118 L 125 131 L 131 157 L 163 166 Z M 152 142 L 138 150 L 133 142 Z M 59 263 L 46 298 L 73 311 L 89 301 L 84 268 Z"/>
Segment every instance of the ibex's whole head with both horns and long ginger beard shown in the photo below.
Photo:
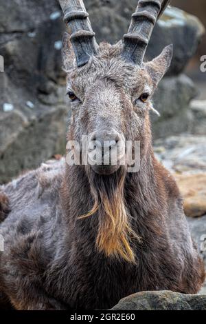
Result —
<path fill-rule="evenodd" d="M 62 48 L 72 110 L 68 139 L 81 143 L 82 136 L 89 135 L 97 146 L 109 143 L 111 152 L 117 151 L 119 140 L 140 141 L 142 159 L 150 150 L 152 94 L 170 66 L 172 45 L 153 61 L 143 60 L 155 23 L 170 0 L 139 0 L 124 41 L 100 46 L 82 0 L 59 2 L 69 27 Z M 101 159 L 103 155 L 101 151 Z M 87 216 L 98 212 L 100 251 L 134 262 L 130 238 L 138 238 L 124 201 L 127 166 L 119 164 L 87 166 L 95 201 Z"/>

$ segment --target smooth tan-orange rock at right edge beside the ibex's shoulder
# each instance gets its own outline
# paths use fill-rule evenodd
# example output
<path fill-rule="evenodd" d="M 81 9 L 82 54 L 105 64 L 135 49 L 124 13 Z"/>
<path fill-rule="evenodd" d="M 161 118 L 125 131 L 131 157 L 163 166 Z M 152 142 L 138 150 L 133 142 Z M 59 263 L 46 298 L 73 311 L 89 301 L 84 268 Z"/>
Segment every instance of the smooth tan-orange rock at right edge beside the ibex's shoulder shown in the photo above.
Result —
<path fill-rule="evenodd" d="M 175 174 L 175 179 L 184 199 L 186 216 L 198 217 L 205 215 L 206 172 L 200 174 Z"/>

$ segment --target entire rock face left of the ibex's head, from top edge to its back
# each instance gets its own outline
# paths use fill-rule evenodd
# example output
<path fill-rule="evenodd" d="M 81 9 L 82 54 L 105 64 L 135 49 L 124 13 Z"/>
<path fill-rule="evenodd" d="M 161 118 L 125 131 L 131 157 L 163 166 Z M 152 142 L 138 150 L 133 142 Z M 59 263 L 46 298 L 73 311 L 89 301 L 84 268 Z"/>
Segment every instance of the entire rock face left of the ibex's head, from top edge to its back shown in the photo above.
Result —
<path fill-rule="evenodd" d="M 65 153 L 60 15 L 56 1 L 16 0 L 15 8 L 12 1 L 1 7 L 0 183 Z"/>

